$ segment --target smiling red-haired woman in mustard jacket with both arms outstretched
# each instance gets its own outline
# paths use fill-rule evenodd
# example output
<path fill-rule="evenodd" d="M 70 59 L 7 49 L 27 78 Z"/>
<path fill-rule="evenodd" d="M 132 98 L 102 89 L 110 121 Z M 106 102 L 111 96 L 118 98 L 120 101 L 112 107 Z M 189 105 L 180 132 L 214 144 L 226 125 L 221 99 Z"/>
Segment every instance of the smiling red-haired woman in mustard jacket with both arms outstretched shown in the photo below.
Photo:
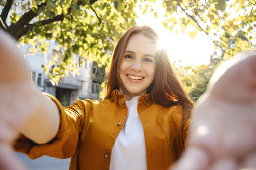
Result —
<path fill-rule="evenodd" d="M 21 132 L 17 151 L 72 157 L 70 169 L 167 169 L 184 149 L 193 103 L 157 39 L 149 27 L 127 31 L 112 56 L 105 100 L 62 108 L 37 90 L 14 41 L 0 30 L 0 168 L 22 169 L 8 150 Z M 213 76 L 174 169 L 256 166 L 256 53 L 242 56 Z"/>

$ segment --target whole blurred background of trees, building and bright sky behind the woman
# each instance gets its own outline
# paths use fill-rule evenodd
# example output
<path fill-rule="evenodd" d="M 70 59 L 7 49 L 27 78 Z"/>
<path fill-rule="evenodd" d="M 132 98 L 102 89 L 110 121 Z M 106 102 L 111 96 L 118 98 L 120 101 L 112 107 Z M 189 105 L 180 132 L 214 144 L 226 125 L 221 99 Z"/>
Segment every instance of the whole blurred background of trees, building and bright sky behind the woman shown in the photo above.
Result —
<path fill-rule="evenodd" d="M 255 49 L 255 5 L 255 0 L 0 0 L 0 27 L 17 40 L 38 89 L 68 106 L 77 98 L 102 98 L 117 40 L 132 26 L 150 26 L 196 102 L 223 61 Z M 31 169 L 68 169 L 70 162 L 17 156 Z"/>

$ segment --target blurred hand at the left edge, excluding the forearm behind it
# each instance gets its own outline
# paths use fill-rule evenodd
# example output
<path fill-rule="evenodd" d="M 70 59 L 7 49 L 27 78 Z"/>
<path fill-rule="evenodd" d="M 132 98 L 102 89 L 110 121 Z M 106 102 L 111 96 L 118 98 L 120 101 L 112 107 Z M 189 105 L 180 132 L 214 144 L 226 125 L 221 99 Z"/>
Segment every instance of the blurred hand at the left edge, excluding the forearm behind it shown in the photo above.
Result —
<path fill-rule="evenodd" d="M 41 95 L 16 42 L 0 30 L 0 169 L 24 169 L 10 147 L 39 108 Z"/>

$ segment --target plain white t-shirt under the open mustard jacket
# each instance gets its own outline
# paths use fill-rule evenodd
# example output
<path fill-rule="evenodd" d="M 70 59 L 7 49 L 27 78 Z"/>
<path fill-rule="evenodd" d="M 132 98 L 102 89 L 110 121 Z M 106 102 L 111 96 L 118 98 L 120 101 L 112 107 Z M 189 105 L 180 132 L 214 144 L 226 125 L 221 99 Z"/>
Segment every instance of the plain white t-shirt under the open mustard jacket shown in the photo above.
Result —
<path fill-rule="evenodd" d="M 147 169 L 144 131 L 137 112 L 139 97 L 126 101 L 128 117 L 112 148 L 110 170 Z"/>

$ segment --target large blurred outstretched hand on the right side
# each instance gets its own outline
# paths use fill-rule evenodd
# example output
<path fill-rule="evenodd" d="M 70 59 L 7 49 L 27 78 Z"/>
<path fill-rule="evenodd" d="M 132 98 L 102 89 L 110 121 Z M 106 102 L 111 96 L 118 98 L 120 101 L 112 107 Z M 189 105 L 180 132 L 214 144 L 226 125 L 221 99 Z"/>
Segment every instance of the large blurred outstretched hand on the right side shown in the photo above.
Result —
<path fill-rule="evenodd" d="M 174 170 L 256 169 L 256 51 L 222 64 L 193 112 Z"/>

